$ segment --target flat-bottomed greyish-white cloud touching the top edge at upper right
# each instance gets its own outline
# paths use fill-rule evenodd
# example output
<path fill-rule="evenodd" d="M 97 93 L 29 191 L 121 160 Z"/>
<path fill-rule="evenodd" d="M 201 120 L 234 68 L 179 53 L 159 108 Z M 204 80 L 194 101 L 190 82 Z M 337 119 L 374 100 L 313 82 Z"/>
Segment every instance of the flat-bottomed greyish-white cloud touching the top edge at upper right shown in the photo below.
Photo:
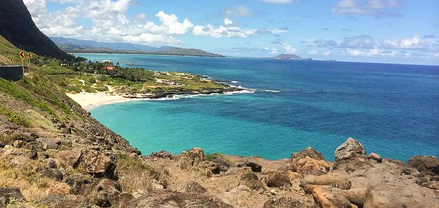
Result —
<path fill-rule="evenodd" d="M 375 17 L 400 17 L 390 11 L 399 6 L 398 0 L 339 0 L 331 9 L 332 13 L 350 15 L 373 15 Z"/>

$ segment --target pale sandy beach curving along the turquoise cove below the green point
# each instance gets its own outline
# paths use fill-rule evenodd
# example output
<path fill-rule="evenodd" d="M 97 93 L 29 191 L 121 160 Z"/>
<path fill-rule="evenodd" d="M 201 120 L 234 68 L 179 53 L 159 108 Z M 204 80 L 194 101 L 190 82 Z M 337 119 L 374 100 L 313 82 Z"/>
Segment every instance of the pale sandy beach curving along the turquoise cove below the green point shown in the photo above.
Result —
<path fill-rule="evenodd" d="M 108 95 L 104 92 L 97 93 L 78 93 L 78 94 L 69 94 L 66 93 L 67 96 L 75 100 L 77 103 L 81 105 L 83 109 L 89 111 L 97 106 L 114 103 L 114 102 L 124 102 L 130 100 L 130 98 L 123 97 L 121 95 Z"/>

